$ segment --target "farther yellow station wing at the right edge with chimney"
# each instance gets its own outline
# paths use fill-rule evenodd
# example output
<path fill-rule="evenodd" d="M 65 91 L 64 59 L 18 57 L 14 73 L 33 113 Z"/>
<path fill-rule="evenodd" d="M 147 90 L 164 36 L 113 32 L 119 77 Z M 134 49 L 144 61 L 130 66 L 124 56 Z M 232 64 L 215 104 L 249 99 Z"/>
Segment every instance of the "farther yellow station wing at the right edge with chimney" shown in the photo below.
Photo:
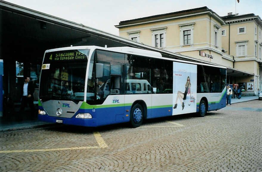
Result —
<path fill-rule="evenodd" d="M 254 75 L 243 75 L 238 82 L 247 83 L 247 95 L 256 94 L 262 85 L 262 22 L 254 14 L 232 15 L 222 17 L 222 51 L 234 57 L 233 68 Z M 231 75 L 229 73 L 228 75 Z M 253 84 L 254 83 L 254 84 Z M 254 85 L 254 88 L 249 85 Z M 250 88 L 250 89 L 248 89 Z"/>

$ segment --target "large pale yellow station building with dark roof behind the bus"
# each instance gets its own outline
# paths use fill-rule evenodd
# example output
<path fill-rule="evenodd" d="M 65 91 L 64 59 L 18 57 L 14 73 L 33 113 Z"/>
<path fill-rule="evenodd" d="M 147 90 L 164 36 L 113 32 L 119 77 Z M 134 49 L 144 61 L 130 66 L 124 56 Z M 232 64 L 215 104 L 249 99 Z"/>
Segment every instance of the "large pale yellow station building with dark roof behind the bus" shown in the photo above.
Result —
<path fill-rule="evenodd" d="M 259 16 L 221 17 L 200 7 L 120 21 L 115 27 L 121 37 L 227 67 L 227 84 L 244 85 L 243 95 L 255 96 L 262 87 Z"/>

